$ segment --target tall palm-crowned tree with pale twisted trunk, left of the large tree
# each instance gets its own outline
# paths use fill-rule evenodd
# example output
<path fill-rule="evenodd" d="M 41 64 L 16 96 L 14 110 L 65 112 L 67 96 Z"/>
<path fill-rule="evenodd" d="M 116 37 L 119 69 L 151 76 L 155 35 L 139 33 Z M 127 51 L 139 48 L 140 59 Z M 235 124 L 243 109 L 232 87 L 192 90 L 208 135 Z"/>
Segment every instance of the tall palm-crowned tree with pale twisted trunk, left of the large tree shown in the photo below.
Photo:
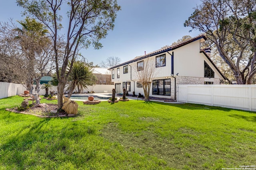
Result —
<path fill-rule="evenodd" d="M 17 33 L 15 39 L 18 41 L 26 61 L 24 68 L 26 68 L 30 96 L 36 100 L 36 104 L 40 104 L 38 95 L 41 89 L 40 79 L 54 69 L 52 42 L 46 36 L 48 30 L 44 29 L 43 24 L 31 18 L 18 22 L 22 28 L 14 29 Z M 35 88 L 34 81 L 36 82 Z"/>

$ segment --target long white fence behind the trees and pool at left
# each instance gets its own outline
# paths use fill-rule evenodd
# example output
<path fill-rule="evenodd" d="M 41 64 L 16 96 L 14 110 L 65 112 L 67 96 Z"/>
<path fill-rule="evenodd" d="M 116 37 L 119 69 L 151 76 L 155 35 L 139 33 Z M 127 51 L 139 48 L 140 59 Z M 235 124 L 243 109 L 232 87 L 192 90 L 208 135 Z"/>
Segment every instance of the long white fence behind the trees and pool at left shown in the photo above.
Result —
<path fill-rule="evenodd" d="M 88 86 L 88 89 L 85 89 L 83 93 L 92 92 L 92 91 L 94 91 L 95 93 L 110 93 L 112 92 L 113 88 L 114 88 L 114 85 L 96 84 L 94 86 Z M 24 90 L 26 90 L 26 88 L 22 86 L 22 84 L 0 82 L 0 99 L 23 94 Z M 54 86 L 53 89 L 49 90 L 49 94 L 50 94 L 50 91 L 52 90 L 54 90 L 54 94 L 57 93 L 56 86 Z M 76 90 L 74 90 L 74 92 L 76 92 Z M 44 95 L 44 94 L 45 94 L 45 89 L 41 89 L 39 92 L 39 95 Z"/>

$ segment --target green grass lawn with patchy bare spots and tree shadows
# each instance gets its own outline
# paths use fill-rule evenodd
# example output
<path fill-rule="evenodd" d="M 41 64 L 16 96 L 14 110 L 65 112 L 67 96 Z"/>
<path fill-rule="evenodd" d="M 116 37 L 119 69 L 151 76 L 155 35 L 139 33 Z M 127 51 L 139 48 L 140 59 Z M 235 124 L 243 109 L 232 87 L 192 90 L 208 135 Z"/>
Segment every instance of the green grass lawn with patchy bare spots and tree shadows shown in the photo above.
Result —
<path fill-rule="evenodd" d="M 221 170 L 256 164 L 254 112 L 137 100 L 78 102 L 79 115 L 69 118 L 5 111 L 22 100 L 0 99 L 0 170 Z"/>

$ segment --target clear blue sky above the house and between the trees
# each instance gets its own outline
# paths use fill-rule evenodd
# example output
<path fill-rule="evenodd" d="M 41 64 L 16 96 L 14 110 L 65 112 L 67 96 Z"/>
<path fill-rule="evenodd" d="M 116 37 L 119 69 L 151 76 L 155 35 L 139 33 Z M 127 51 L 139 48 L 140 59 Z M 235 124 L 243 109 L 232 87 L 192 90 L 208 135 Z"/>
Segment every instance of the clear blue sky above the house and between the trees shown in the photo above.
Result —
<path fill-rule="evenodd" d="M 194 12 L 200 0 L 118 0 L 118 12 L 113 31 L 102 39 L 103 48 L 93 47 L 81 53 L 89 62 L 100 64 L 108 57 L 120 57 L 121 62 L 171 45 L 184 35 L 195 37 L 199 31 L 189 32 L 184 21 Z M 5 0 L 0 6 L 0 21 L 10 18 L 24 20 L 22 8 L 16 0 Z"/>

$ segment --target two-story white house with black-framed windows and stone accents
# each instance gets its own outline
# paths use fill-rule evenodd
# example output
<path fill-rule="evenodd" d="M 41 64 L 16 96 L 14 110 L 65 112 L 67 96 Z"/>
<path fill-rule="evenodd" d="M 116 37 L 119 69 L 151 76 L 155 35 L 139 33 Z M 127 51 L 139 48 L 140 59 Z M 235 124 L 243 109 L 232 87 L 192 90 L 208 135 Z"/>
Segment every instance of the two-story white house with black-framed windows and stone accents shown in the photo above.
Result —
<path fill-rule="evenodd" d="M 116 93 L 122 93 L 122 89 L 126 88 L 129 94 L 144 94 L 136 72 L 146 69 L 146 60 L 156 63 L 157 74 L 150 90 L 152 97 L 176 100 L 178 84 L 220 84 L 220 80 L 226 78 L 210 59 L 210 50 L 200 49 L 200 43 L 205 40 L 204 35 L 198 35 L 108 68 Z"/>

